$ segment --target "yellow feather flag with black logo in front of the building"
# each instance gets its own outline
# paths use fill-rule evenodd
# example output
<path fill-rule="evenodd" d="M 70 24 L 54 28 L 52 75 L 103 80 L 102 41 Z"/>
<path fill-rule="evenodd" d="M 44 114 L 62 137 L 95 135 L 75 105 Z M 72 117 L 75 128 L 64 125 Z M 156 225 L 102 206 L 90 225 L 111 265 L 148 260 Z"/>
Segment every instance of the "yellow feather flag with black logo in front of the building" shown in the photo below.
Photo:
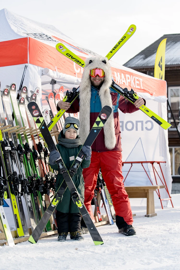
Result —
<path fill-rule="evenodd" d="M 156 53 L 156 60 L 154 66 L 154 77 L 164 80 L 165 77 L 165 50 L 166 50 L 166 40 L 167 38 L 163 39 L 159 44 Z"/>

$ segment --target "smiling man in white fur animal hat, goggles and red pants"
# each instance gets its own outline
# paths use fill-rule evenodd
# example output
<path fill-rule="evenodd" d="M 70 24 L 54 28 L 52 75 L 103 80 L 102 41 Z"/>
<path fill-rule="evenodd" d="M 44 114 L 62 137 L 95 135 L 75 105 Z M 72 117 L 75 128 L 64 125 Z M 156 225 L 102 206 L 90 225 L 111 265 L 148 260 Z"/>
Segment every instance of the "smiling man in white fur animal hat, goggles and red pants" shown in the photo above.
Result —
<path fill-rule="evenodd" d="M 119 232 L 124 235 L 134 235 L 136 231 L 132 226 L 130 201 L 123 184 L 118 108 L 123 113 L 133 113 L 144 104 L 144 100 L 140 97 L 134 104 L 128 100 L 125 102 L 124 97 L 111 88 L 111 83 L 111 68 L 107 58 L 95 56 L 86 59 L 80 83 L 79 100 L 76 99 L 71 106 L 68 102 L 59 101 L 57 109 L 67 110 L 68 113 L 79 112 L 81 124 L 79 136 L 83 144 L 101 108 L 105 105 L 113 108 L 113 113 L 91 146 L 91 164 L 89 168 L 83 170 L 84 204 L 92 216 L 91 200 L 101 168 L 104 181 L 112 197 Z"/>

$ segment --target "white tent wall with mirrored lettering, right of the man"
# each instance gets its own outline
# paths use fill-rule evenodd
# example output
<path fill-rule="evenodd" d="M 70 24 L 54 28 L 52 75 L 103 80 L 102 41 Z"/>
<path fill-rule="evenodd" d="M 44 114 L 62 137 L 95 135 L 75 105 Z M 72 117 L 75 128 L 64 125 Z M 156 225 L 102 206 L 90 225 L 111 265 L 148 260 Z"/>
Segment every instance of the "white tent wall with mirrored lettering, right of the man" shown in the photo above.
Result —
<path fill-rule="evenodd" d="M 146 100 L 146 106 L 167 120 L 166 103 Z M 169 193 L 171 193 L 172 177 L 168 148 L 168 130 L 162 129 L 162 127 L 140 110 L 131 114 L 119 112 L 119 116 L 123 161 L 166 161 L 166 164 L 161 164 L 161 167 L 168 185 Z M 130 166 L 131 164 L 125 164 L 123 166 L 124 178 L 127 175 Z M 152 165 L 144 164 L 144 167 L 148 171 L 148 175 L 152 182 L 155 184 Z M 159 165 L 155 165 L 155 168 L 161 177 Z M 162 185 L 158 176 L 157 181 L 159 185 Z M 151 182 L 141 164 L 133 164 L 124 184 L 127 186 L 151 185 Z M 168 198 L 165 189 L 161 189 L 160 194 L 161 198 Z M 158 200 L 158 203 L 160 203 L 158 196 L 155 193 L 154 196 L 155 200 Z M 164 201 L 163 204 L 167 205 L 167 201 Z"/>

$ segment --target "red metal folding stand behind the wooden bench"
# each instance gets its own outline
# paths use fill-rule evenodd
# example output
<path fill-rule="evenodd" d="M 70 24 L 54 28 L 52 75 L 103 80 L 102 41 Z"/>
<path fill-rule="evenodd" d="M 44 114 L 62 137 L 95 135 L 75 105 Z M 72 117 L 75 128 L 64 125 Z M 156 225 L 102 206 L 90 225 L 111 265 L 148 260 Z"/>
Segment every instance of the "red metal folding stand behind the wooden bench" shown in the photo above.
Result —
<path fill-rule="evenodd" d="M 131 161 L 131 162 L 123 162 L 122 165 L 124 165 L 124 164 L 131 164 L 131 167 L 130 167 L 130 169 L 129 169 L 129 171 L 128 171 L 128 173 L 129 173 L 130 170 L 131 170 L 131 168 L 132 168 L 132 166 L 133 166 L 133 164 L 135 164 L 135 163 L 136 163 L 136 164 L 141 164 L 146 174 L 147 174 L 147 171 L 145 170 L 143 164 L 144 164 L 144 163 L 150 163 L 150 164 L 152 164 L 152 170 L 153 170 L 153 172 L 154 172 L 154 177 L 155 177 L 156 185 L 158 185 L 158 183 L 157 183 L 157 178 L 156 178 L 155 172 L 157 173 L 159 179 L 161 180 L 161 183 L 162 183 L 163 185 L 165 185 L 165 190 L 167 191 L 168 196 L 169 196 L 169 198 L 167 198 L 167 199 L 161 199 L 161 195 L 160 195 L 159 189 L 156 191 L 156 193 L 157 193 L 157 195 L 158 195 L 158 197 L 159 197 L 159 199 L 160 199 L 160 201 L 161 201 L 161 207 L 162 207 L 162 209 L 163 209 L 162 201 L 165 201 L 165 200 L 170 200 L 170 201 L 171 201 L 171 204 L 172 204 L 171 196 L 170 196 L 170 194 L 169 194 L 169 190 L 168 190 L 168 187 L 167 187 L 167 184 L 166 184 L 166 181 L 165 181 L 165 178 L 164 178 L 164 174 L 163 174 L 163 172 L 162 172 L 161 164 L 160 164 L 160 163 L 166 163 L 166 161 Z M 154 163 L 159 164 L 159 167 L 160 167 L 160 170 L 161 170 L 161 173 L 162 173 L 162 177 L 163 177 L 164 183 L 163 183 L 161 177 L 159 176 L 159 174 L 158 174 L 156 168 L 154 167 Z M 126 175 L 126 177 L 125 177 L 123 183 L 125 182 L 125 180 L 126 180 L 126 178 L 127 178 L 127 176 L 128 176 L 128 173 L 127 173 L 127 175 Z M 149 178 L 151 184 L 153 185 L 153 183 L 152 183 L 150 177 L 148 176 L 148 174 L 147 174 L 147 177 Z M 172 204 L 172 207 L 174 207 L 173 204 Z"/>

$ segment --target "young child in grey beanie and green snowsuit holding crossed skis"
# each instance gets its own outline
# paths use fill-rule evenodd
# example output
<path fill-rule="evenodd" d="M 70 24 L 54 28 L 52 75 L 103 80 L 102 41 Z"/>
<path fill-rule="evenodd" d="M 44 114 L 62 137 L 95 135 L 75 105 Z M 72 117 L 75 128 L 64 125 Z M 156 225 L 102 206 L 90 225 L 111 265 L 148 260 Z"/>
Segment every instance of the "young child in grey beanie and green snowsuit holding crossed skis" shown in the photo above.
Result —
<path fill-rule="evenodd" d="M 58 166 L 55 161 L 60 157 L 60 155 L 66 168 L 68 170 L 70 169 L 74 159 L 82 147 L 81 139 L 78 134 L 79 120 L 70 116 L 66 117 L 63 130 L 60 132 L 58 137 L 59 143 L 56 145 L 59 152 L 56 150 L 50 152 L 49 164 L 53 169 L 58 170 Z M 90 165 L 91 147 L 83 146 L 82 151 L 86 157 L 83 159 L 72 180 L 78 193 L 81 195 L 81 199 L 84 201 L 84 179 L 82 171 L 83 168 L 88 168 Z M 62 184 L 63 180 L 63 176 L 58 173 L 56 178 L 56 191 Z M 81 236 L 81 214 L 77 205 L 74 204 L 68 188 L 63 194 L 62 203 L 58 203 L 56 210 L 57 232 L 59 233 L 57 240 L 66 241 L 68 232 L 70 232 L 71 239 L 84 240 Z"/>

